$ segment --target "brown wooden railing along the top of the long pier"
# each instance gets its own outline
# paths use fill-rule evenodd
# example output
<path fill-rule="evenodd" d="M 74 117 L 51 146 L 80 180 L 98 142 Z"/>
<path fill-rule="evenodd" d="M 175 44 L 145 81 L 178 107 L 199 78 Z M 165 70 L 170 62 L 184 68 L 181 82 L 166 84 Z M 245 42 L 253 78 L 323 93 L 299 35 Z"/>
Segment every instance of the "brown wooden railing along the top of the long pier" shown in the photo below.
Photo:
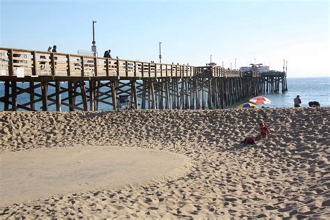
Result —
<path fill-rule="evenodd" d="M 0 77 L 242 77 L 238 70 L 193 67 L 0 47 Z"/>

